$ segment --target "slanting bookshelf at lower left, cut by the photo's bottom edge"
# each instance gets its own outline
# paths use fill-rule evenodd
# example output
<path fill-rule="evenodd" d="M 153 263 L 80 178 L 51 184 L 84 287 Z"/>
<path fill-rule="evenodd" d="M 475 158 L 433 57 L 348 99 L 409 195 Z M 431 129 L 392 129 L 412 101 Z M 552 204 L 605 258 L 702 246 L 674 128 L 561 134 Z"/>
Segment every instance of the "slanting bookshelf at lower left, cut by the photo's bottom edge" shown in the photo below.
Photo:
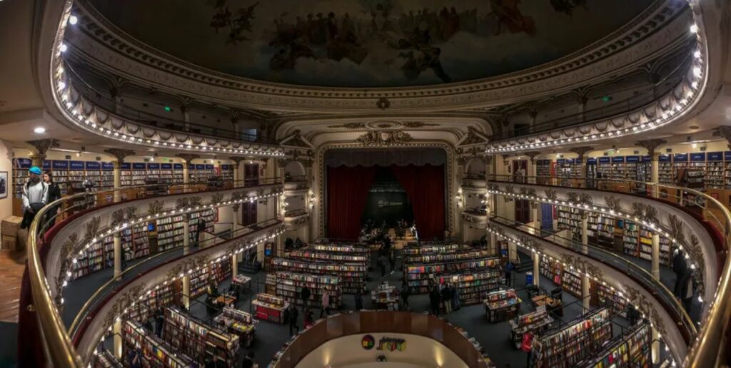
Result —
<path fill-rule="evenodd" d="M 194 364 L 186 354 L 154 336 L 137 321 L 124 321 L 122 339 L 126 342 L 125 349 L 142 352 L 143 367 L 192 367 Z"/>

